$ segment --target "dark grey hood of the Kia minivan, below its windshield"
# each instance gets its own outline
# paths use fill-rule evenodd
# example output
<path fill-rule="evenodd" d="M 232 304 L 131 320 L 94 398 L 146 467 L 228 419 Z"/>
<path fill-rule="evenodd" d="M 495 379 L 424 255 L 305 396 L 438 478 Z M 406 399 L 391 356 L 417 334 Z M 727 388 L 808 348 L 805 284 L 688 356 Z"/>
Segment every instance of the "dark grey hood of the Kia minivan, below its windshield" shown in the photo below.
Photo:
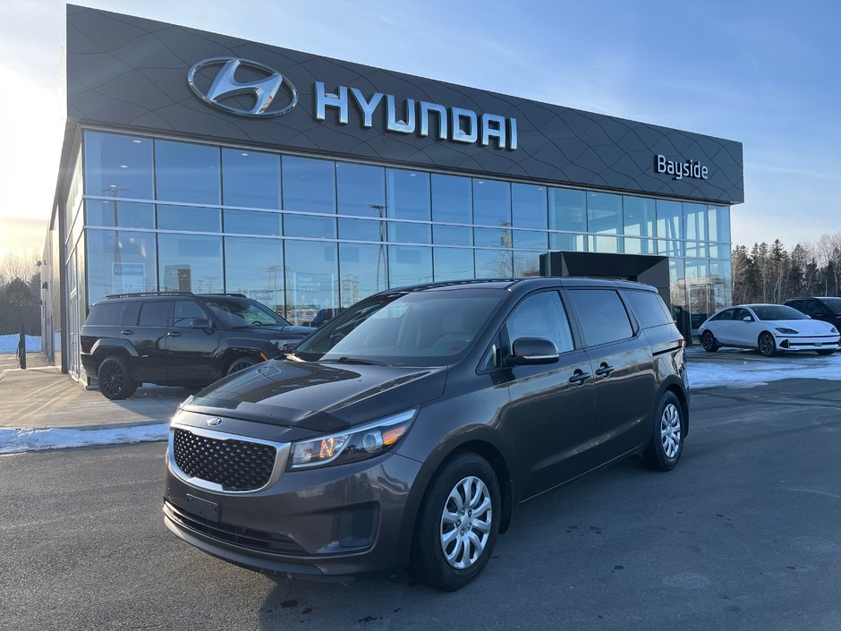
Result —
<path fill-rule="evenodd" d="M 189 412 L 312 431 L 342 431 L 427 403 L 444 393 L 446 367 L 269 360 L 188 399 Z"/>

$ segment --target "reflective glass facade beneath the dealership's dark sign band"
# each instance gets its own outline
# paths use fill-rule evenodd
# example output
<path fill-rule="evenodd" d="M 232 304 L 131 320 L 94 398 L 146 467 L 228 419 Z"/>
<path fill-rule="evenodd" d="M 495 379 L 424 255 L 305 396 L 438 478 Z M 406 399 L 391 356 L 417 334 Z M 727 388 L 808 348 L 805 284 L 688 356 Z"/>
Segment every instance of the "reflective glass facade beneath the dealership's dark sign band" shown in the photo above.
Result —
<path fill-rule="evenodd" d="M 538 276 L 548 250 L 667 255 L 686 331 L 730 303 L 727 207 L 91 130 L 82 154 L 82 321 L 106 294 L 166 290 L 239 292 L 301 324 L 388 287 Z"/>

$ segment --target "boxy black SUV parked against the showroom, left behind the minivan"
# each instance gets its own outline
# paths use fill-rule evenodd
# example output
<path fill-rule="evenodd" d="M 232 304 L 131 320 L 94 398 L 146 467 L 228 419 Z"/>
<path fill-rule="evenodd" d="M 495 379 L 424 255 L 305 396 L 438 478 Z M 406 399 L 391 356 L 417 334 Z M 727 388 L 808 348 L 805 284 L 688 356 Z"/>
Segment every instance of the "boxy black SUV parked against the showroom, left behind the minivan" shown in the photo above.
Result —
<path fill-rule="evenodd" d="M 195 388 L 279 357 L 315 331 L 243 294 L 116 294 L 81 328 L 81 363 L 109 399 L 141 383 Z"/>

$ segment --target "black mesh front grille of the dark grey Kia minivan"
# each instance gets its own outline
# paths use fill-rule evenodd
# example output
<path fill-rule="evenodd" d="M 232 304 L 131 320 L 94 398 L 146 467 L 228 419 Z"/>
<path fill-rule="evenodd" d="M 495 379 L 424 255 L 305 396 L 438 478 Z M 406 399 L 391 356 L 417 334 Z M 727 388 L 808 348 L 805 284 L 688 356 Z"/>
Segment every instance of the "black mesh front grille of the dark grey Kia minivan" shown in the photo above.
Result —
<path fill-rule="evenodd" d="M 211 439 L 175 428 L 175 465 L 191 478 L 214 482 L 222 490 L 256 490 L 271 479 L 276 448 L 236 439 Z"/>

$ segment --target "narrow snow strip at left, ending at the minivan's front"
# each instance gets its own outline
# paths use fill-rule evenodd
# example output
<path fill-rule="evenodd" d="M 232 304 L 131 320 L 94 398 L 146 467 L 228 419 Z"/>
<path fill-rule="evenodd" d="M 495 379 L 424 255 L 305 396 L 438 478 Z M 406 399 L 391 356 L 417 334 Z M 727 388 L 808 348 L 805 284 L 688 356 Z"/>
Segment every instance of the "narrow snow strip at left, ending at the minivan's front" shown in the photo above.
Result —
<path fill-rule="evenodd" d="M 18 454 L 37 449 L 64 449 L 92 445 L 166 440 L 169 423 L 115 427 L 106 430 L 74 430 L 47 428 L 45 430 L 6 430 L 0 428 L 0 454 Z"/>

